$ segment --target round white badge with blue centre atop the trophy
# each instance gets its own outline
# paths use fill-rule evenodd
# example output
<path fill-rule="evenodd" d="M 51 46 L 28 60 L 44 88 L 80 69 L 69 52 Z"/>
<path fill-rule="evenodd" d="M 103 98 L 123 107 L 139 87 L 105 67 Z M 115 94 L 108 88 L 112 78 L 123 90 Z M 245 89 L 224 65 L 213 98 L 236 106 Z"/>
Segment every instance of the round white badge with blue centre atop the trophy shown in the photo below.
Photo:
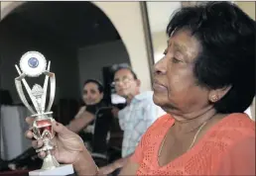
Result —
<path fill-rule="evenodd" d="M 22 55 L 20 67 L 23 73 L 30 77 L 40 76 L 47 68 L 45 56 L 38 51 L 28 51 Z"/>

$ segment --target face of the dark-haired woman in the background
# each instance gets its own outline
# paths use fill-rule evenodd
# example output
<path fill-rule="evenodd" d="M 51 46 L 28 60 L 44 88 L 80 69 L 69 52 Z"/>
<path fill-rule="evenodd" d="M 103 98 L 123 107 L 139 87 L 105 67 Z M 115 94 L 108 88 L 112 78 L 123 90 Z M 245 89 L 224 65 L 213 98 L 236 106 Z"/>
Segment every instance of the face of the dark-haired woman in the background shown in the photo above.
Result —
<path fill-rule="evenodd" d="M 82 98 L 85 105 L 94 105 L 102 100 L 103 93 L 99 92 L 97 84 L 89 82 L 83 87 Z"/>

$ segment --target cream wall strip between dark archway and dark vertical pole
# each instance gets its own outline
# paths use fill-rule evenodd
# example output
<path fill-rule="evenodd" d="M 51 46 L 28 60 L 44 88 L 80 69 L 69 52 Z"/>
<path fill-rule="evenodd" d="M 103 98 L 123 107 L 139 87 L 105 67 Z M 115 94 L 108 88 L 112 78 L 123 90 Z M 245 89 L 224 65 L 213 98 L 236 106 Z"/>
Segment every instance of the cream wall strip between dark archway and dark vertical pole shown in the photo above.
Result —
<path fill-rule="evenodd" d="M 150 69 L 140 2 L 92 2 L 113 23 L 125 44 L 133 70 L 142 81 L 141 90 L 151 90 Z"/>

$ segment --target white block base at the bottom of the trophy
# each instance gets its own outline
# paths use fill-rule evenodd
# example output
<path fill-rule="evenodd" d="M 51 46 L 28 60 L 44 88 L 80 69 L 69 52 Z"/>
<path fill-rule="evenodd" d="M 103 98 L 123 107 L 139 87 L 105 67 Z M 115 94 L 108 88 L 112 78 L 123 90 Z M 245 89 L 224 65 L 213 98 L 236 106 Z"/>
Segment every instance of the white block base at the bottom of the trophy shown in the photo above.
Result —
<path fill-rule="evenodd" d="M 59 167 L 56 167 L 54 169 L 50 170 L 44 170 L 44 169 L 39 169 L 39 170 L 34 170 L 29 172 L 30 176 L 67 176 L 70 174 L 73 174 L 73 167 L 72 164 L 61 164 Z"/>

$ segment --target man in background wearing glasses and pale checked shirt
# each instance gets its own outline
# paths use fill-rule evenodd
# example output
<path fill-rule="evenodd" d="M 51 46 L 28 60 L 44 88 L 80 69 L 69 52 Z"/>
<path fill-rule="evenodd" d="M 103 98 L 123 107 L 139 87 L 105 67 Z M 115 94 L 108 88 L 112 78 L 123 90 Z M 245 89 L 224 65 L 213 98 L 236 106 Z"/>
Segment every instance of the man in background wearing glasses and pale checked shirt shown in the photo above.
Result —
<path fill-rule="evenodd" d="M 116 93 L 126 99 L 127 106 L 118 110 L 113 109 L 113 114 L 119 119 L 123 134 L 122 158 L 101 167 L 101 174 L 118 174 L 133 154 L 142 135 L 147 129 L 164 114 L 164 111 L 153 102 L 153 92 L 140 92 L 141 81 L 134 71 L 128 66 L 118 66 L 114 72 Z"/>

